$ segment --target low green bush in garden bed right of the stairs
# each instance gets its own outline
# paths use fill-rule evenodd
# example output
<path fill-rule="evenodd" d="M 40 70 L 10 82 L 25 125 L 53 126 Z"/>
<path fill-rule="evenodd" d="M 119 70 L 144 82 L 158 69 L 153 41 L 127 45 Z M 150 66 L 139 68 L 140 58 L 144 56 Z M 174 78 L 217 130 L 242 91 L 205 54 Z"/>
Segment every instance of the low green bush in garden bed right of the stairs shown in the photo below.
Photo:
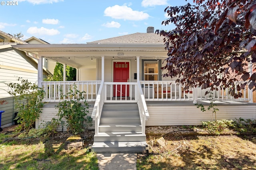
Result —
<path fill-rule="evenodd" d="M 211 134 L 220 135 L 225 129 L 234 127 L 232 120 L 216 120 L 216 121 L 202 121 L 202 126 L 207 129 Z"/>

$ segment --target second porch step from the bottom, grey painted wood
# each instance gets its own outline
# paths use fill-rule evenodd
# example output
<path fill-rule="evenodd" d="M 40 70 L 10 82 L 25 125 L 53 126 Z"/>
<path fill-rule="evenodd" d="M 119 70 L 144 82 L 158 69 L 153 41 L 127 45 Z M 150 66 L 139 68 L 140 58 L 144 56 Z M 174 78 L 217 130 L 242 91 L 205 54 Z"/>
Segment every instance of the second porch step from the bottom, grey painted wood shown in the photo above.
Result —
<path fill-rule="evenodd" d="M 141 142 L 146 135 L 141 132 L 100 132 L 94 135 L 94 142 Z"/>

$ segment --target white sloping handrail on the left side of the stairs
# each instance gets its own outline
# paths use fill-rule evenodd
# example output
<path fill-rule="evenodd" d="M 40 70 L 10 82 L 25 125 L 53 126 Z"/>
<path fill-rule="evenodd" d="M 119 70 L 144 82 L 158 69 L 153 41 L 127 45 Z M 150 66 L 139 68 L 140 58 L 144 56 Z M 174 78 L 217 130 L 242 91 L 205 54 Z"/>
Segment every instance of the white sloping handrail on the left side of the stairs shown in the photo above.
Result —
<path fill-rule="evenodd" d="M 99 132 L 99 124 L 102 108 L 104 105 L 104 82 L 100 83 L 100 88 L 96 97 L 96 101 L 92 110 L 92 119 L 95 121 L 95 135 L 98 135 Z"/>

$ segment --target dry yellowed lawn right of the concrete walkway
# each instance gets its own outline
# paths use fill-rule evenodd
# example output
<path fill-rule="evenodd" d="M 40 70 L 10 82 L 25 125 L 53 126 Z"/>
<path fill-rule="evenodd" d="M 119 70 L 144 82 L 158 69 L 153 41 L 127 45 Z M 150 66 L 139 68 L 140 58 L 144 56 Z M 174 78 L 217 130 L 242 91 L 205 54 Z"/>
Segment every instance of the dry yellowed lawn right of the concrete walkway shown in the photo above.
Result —
<path fill-rule="evenodd" d="M 170 137 L 172 141 L 180 141 L 180 138 Z M 255 141 L 248 143 L 246 140 L 242 141 L 239 137 L 234 137 L 230 145 L 234 144 L 237 148 L 231 146 L 229 148 L 226 143 L 224 149 L 220 147 L 224 141 L 219 142 L 214 140 L 214 137 L 207 139 L 205 144 L 196 141 L 198 137 L 182 137 L 182 141 L 184 138 L 192 142 L 185 140 L 186 143 L 174 152 L 141 156 L 138 158 L 137 168 L 140 170 L 256 169 L 256 153 L 253 151 Z M 248 150 L 247 147 L 252 149 Z"/>

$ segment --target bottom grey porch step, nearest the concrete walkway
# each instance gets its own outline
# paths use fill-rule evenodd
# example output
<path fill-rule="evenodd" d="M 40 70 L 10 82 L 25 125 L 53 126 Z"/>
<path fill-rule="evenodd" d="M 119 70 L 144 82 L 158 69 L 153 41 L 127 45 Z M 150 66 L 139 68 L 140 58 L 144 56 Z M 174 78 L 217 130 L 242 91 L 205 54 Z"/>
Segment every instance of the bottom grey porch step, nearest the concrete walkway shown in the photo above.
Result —
<path fill-rule="evenodd" d="M 146 142 L 94 142 L 92 150 L 97 153 L 143 152 Z"/>

